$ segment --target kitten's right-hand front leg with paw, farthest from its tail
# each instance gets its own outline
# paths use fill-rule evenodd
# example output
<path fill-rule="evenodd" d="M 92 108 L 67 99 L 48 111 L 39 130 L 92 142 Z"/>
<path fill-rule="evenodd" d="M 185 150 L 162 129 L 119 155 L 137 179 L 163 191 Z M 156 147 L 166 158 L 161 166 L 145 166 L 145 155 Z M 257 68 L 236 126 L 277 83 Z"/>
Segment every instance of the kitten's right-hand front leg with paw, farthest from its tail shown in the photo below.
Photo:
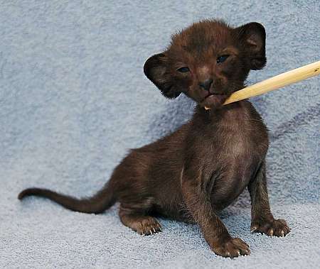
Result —
<path fill-rule="evenodd" d="M 250 181 L 248 190 L 252 205 L 250 230 L 268 236 L 286 236 L 290 231 L 287 222 L 284 219 L 274 219 L 270 210 L 265 160 L 260 165 L 255 178 Z"/>

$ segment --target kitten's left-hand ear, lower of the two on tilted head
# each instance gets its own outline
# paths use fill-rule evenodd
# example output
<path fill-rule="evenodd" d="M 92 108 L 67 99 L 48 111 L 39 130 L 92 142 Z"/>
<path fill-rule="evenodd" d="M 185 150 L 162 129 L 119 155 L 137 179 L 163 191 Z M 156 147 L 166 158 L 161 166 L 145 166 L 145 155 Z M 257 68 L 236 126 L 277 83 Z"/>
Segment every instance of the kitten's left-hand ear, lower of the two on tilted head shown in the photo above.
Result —
<path fill-rule="evenodd" d="M 165 53 L 155 54 L 144 63 L 144 74 L 153 82 L 165 97 L 174 99 L 178 91 L 175 79 L 170 74 L 169 61 Z"/>

